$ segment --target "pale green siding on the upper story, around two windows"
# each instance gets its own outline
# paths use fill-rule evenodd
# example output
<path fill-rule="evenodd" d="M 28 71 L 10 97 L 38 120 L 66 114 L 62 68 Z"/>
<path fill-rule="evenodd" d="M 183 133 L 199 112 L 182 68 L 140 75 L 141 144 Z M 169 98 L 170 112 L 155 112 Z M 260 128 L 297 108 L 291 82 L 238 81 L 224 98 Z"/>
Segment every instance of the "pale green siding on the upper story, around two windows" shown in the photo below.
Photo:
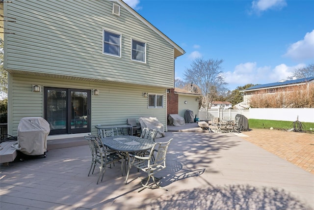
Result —
<path fill-rule="evenodd" d="M 173 87 L 174 47 L 112 1 L 27 0 L 6 3 L 6 68 L 10 72 L 59 75 L 162 88 Z M 121 58 L 104 55 L 103 29 L 122 34 Z M 131 60 L 131 39 L 146 42 L 146 63 Z"/>

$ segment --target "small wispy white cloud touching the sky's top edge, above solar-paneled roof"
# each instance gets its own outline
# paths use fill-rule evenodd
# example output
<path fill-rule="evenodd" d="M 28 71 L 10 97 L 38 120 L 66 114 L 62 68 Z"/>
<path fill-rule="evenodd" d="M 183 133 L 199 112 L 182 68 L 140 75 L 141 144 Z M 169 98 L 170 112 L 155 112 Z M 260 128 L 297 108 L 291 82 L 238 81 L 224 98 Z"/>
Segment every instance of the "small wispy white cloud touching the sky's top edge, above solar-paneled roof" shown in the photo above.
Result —
<path fill-rule="evenodd" d="M 261 13 L 268 9 L 282 9 L 285 6 L 286 0 L 253 0 L 251 12 Z"/>

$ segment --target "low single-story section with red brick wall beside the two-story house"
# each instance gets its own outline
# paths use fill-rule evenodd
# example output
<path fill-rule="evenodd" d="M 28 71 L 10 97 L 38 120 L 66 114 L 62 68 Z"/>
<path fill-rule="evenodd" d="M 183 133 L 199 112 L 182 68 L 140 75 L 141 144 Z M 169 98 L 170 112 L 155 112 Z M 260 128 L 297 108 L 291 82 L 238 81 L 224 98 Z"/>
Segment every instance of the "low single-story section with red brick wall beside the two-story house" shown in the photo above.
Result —
<path fill-rule="evenodd" d="M 199 98 L 201 94 L 187 90 L 172 88 L 167 93 L 167 116 L 178 114 L 185 118 L 185 111 L 191 110 L 198 117 Z"/>

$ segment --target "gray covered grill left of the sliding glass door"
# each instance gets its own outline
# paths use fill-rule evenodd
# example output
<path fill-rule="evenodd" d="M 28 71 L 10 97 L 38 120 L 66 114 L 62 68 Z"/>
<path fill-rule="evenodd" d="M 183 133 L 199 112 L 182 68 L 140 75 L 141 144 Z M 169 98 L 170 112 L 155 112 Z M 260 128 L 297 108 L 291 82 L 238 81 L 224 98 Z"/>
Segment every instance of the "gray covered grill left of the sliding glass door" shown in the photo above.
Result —
<path fill-rule="evenodd" d="M 47 151 L 49 123 L 40 117 L 22 118 L 18 126 L 18 142 L 13 145 L 27 155 L 41 155 Z"/>

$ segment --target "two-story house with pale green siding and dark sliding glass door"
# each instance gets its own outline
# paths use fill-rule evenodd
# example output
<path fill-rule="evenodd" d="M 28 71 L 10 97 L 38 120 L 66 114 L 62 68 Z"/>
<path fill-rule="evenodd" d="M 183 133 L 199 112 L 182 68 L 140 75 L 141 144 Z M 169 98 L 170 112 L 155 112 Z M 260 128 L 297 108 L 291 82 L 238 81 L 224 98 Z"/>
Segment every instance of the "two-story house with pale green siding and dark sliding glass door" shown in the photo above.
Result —
<path fill-rule="evenodd" d="M 8 134 L 17 136 L 24 117 L 48 120 L 48 139 L 96 134 L 96 125 L 130 117 L 166 124 L 174 60 L 184 51 L 122 0 L 0 6 Z"/>

